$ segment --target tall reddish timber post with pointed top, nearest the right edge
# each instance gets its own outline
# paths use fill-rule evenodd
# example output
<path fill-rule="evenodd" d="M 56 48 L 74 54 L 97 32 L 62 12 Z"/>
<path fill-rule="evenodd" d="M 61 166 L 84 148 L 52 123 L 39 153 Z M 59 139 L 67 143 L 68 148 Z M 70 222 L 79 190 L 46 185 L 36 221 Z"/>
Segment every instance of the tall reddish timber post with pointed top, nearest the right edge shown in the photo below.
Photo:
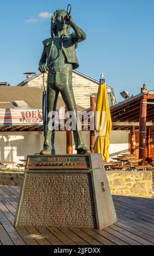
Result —
<path fill-rule="evenodd" d="M 147 115 L 147 99 L 146 99 L 146 84 L 141 88 L 143 99 L 140 101 L 140 117 L 139 117 L 139 159 L 143 159 L 140 164 L 145 164 L 145 150 L 146 150 L 146 115 Z"/>

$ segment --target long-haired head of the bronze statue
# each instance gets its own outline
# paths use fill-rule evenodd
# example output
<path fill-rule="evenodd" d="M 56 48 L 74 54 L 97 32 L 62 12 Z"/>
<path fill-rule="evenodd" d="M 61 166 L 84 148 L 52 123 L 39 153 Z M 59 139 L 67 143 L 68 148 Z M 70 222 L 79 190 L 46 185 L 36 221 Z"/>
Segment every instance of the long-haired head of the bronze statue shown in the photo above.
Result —
<path fill-rule="evenodd" d="M 61 31 L 63 29 L 63 20 L 65 16 L 67 15 L 66 10 L 56 10 L 52 16 L 52 21 L 51 21 L 51 36 L 52 38 L 55 37 L 57 31 Z M 70 26 L 65 25 L 65 34 L 69 35 L 70 33 Z"/>

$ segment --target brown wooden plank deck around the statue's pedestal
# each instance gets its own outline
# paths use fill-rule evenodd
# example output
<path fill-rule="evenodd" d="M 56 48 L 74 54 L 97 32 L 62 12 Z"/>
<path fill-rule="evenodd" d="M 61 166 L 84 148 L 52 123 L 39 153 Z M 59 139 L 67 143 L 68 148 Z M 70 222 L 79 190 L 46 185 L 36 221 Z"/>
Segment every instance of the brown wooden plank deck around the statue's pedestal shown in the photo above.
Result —
<path fill-rule="evenodd" d="M 118 222 L 101 231 L 13 227 L 19 187 L 0 185 L 0 245 L 154 245 L 154 199 L 113 196 Z M 29 240 L 28 234 L 46 234 Z"/>

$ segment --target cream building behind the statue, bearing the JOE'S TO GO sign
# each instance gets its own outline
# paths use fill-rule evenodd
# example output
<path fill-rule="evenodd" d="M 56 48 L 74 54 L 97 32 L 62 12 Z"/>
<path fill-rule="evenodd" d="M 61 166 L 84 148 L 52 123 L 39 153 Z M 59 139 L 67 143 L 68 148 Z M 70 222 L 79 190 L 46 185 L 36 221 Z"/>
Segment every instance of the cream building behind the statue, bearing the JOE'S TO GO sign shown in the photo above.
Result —
<path fill-rule="evenodd" d="M 45 84 L 47 76 L 45 76 Z M 78 111 L 90 107 L 90 95 L 97 96 L 99 81 L 73 71 L 73 90 Z M 31 76 L 15 87 L 0 86 L 0 161 L 20 163 L 27 155 L 40 153 L 43 147 L 42 119 L 42 74 Z M 116 103 L 112 87 L 107 86 L 110 105 Z M 59 97 L 57 112 L 65 108 Z M 85 144 L 89 148 L 89 131 L 81 131 Z M 73 136 L 72 136 L 73 137 Z M 117 147 L 118 144 L 118 147 Z M 66 131 L 55 133 L 56 154 L 66 154 Z M 129 149 L 129 133 L 113 131 L 111 133 L 110 154 L 125 153 Z M 118 150 L 118 151 L 117 151 Z M 73 140 L 73 153 L 75 143 Z M 16 164 L 13 166 L 16 167 Z"/>

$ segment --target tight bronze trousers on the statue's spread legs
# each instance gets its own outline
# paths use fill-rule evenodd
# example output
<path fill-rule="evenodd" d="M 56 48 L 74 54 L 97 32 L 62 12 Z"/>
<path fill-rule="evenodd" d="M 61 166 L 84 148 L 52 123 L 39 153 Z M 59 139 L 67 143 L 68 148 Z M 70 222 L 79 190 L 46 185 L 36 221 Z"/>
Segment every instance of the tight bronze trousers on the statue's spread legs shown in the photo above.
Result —
<path fill-rule="evenodd" d="M 82 142 L 81 132 L 79 130 L 79 119 L 78 111 L 75 104 L 73 88 L 72 88 L 72 70 L 66 68 L 52 68 L 48 72 L 47 80 L 47 113 L 48 113 L 48 123 L 47 132 L 44 141 L 44 149 L 53 149 L 54 154 L 54 138 L 55 130 L 52 130 L 53 123 L 53 111 L 56 111 L 57 99 L 61 93 L 62 99 L 65 102 L 68 111 L 73 113 L 72 116 L 72 126 L 73 135 L 76 145 L 76 150 L 83 148 L 84 143 Z M 75 124 L 75 125 L 74 125 Z"/>

